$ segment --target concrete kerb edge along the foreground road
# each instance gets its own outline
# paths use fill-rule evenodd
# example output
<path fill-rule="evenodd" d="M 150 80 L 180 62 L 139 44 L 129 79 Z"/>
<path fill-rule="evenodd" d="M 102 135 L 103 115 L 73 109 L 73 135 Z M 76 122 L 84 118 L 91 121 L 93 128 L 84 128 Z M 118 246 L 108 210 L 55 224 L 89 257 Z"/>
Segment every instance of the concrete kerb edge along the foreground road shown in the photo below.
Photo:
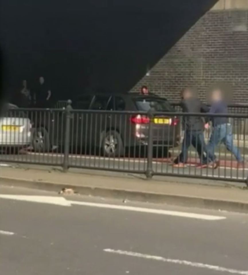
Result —
<path fill-rule="evenodd" d="M 25 188 L 33 188 L 46 191 L 58 192 L 62 188 L 73 188 L 80 195 L 97 196 L 106 198 L 120 198 L 122 200 L 132 200 L 150 203 L 165 203 L 176 206 L 208 208 L 215 210 L 225 210 L 233 212 L 248 213 L 248 200 L 245 202 L 236 202 L 228 200 L 217 200 L 211 198 L 201 198 L 193 196 L 177 196 L 174 194 L 158 194 L 153 192 L 142 192 L 134 190 L 103 188 L 92 186 L 79 186 L 70 184 L 60 184 L 57 182 L 33 181 L 28 179 L 17 179 L 9 177 L 0 177 L 1 183 L 7 186 L 18 186 Z M 247 194 L 248 196 L 248 194 Z"/>

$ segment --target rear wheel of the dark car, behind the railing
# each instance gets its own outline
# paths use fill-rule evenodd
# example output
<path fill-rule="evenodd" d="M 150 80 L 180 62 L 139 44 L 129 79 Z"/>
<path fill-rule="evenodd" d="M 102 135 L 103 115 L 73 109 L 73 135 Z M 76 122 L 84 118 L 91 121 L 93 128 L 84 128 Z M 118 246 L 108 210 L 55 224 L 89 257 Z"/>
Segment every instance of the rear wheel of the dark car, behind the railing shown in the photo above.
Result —
<path fill-rule="evenodd" d="M 106 157 L 122 157 L 124 155 L 124 147 L 120 134 L 114 130 L 103 134 L 101 150 Z"/>

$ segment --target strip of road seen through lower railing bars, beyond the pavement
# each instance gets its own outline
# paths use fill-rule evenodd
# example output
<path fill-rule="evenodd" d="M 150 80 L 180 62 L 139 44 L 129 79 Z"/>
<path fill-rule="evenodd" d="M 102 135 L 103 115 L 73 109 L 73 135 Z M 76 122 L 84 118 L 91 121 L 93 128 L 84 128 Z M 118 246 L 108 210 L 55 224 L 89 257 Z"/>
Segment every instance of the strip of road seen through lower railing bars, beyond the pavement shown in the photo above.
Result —
<path fill-rule="evenodd" d="M 58 153 L 28 153 L 28 154 L 1 154 L 0 161 L 19 161 L 29 163 L 42 163 L 49 165 L 62 165 L 63 154 Z M 153 171 L 155 173 L 164 175 L 198 175 L 204 177 L 215 177 L 215 178 L 227 178 L 227 179 L 247 179 L 248 166 L 237 169 L 236 161 L 221 161 L 221 165 L 218 169 L 198 169 L 196 167 L 196 159 L 191 159 L 190 165 L 184 169 L 172 167 L 168 160 L 158 158 L 153 161 Z M 144 173 L 147 167 L 147 160 L 144 158 L 125 157 L 125 158 L 108 158 L 100 156 L 90 155 L 70 155 L 69 165 L 71 167 L 82 167 L 82 168 L 95 168 L 95 169 L 112 169 L 129 172 L 140 172 Z"/>

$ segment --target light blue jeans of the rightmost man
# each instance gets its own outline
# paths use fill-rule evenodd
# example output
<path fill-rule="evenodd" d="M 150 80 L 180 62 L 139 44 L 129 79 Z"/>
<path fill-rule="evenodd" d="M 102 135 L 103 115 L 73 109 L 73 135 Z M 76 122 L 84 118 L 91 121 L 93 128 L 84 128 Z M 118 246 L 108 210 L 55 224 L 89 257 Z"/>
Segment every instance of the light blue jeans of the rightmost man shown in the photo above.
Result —
<path fill-rule="evenodd" d="M 231 124 L 220 124 L 213 128 L 208 145 L 206 146 L 208 159 L 211 161 L 215 161 L 214 149 L 220 143 L 224 143 L 226 149 L 233 153 L 237 161 L 243 161 L 239 149 L 233 145 L 233 132 Z"/>

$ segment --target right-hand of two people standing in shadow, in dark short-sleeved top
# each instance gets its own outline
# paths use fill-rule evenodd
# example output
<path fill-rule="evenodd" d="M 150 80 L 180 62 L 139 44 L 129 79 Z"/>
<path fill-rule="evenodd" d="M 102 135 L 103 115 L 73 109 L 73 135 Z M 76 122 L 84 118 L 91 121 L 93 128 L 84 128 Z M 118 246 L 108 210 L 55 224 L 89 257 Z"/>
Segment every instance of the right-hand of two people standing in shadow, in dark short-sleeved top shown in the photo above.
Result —
<path fill-rule="evenodd" d="M 50 107 L 50 98 L 51 98 L 52 92 L 47 87 L 45 83 L 45 79 L 43 76 L 39 77 L 39 86 L 34 94 L 34 102 L 35 106 L 38 108 L 48 108 Z"/>

